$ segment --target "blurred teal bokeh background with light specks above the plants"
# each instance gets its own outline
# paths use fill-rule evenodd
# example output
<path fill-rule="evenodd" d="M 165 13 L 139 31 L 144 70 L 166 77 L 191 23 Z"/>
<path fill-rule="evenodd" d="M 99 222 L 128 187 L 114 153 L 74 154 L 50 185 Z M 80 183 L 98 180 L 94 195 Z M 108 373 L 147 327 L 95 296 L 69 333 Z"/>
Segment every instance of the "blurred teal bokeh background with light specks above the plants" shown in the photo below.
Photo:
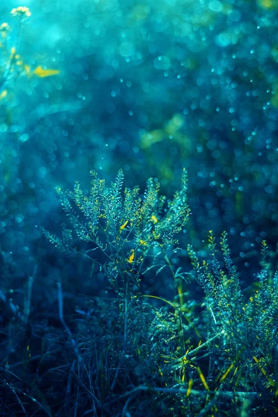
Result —
<path fill-rule="evenodd" d="M 55 187 L 88 189 L 91 169 L 109 182 L 122 168 L 125 186 L 143 191 L 154 177 L 170 197 L 186 167 L 193 214 L 181 246 L 204 254 L 208 230 L 227 230 L 240 279 L 252 280 L 261 240 L 273 252 L 277 243 L 278 1 L 1 0 L 8 48 L 17 6 L 32 13 L 18 54 L 60 73 L 15 77 L 0 99 L 9 277 L 24 283 L 35 264 L 48 288 L 60 274 L 79 277 L 78 291 L 105 286 L 40 235 L 40 226 L 60 234 Z"/>

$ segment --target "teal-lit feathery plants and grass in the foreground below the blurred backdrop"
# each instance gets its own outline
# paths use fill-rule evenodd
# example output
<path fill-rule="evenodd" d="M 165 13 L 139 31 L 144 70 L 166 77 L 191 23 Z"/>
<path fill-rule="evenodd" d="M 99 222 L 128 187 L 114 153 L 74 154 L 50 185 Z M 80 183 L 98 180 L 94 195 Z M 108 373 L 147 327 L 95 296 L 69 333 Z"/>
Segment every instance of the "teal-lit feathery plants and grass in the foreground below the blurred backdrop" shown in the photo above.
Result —
<path fill-rule="evenodd" d="M 140 197 L 138 187 L 122 190 L 122 172 L 111 186 L 91 174 L 86 193 L 79 183 L 73 191 L 57 189 L 74 234 L 67 224 L 61 238 L 42 231 L 67 256 L 89 259 L 90 279 L 102 272 L 109 295 L 83 295 L 65 316 L 58 280 L 57 326 L 55 320 L 51 325 L 28 320 L 33 277 L 22 311 L 1 292 L 10 327 L 6 336 L 3 332 L 9 348 L 2 389 L 17 400 L 1 398 L 4 415 L 241 416 L 242 409 L 248 416 L 275 414 L 278 275 L 268 263 L 265 241 L 257 288 L 248 299 L 226 233 L 222 257 L 211 231 L 208 260 L 199 261 L 191 245 L 187 252 L 177 247 L 174 235 L 184 230 L 189 215 L 185 170 L 181 190 L 166 205 L 157 181 L 149 179 Z M 177 266 L 184 252 L 193 270 Z M 173 300 L 142 294 L 141 281 L 150 271 L 172 279 Z M 195 279 L 204 295 L 194 299 Z M 24 359 L 15 361 L 22 352 Z"/>

